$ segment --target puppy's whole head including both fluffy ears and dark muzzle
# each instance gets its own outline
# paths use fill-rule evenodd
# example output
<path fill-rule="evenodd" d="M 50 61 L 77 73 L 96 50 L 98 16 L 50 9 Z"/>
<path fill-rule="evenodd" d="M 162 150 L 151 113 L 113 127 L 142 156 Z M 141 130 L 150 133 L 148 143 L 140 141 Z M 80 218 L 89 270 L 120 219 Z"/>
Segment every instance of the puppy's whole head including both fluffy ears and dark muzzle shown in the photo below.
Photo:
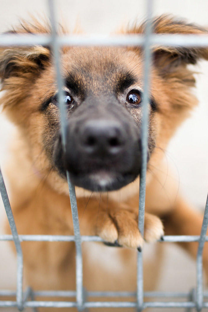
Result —
<path fill-rule="evenodd" d="M 156 33 L 206 33 L 167 16 L 153 21 Z M 143 33 L 144 24 L 127 32 Z M 24 24 L 16 32 L 49 32 Z M 148 103 L 148 166 L 157 165 L 177 126 L 196 104 L 188 63 L 208 58 L 202 48 L 153 47 Z M 119 189 L 139 176 L 143 101 L 141 48 L 63 48 L 66 149 L 60 136 L 56 74 L 50 49 L 2 49 L 0 74 L 7 114 L 21 129 L 30 157 L 47 179 L 94 191 Z M 41 157 L 40 157 L 41 155 Z"/>

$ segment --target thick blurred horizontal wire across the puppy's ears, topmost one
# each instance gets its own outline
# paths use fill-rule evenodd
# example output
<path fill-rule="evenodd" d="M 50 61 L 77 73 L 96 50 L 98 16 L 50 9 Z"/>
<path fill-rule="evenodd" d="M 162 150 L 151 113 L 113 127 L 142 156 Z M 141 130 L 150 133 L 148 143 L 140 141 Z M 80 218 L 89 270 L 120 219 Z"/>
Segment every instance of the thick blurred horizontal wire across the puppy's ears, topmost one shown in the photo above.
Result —
<path fill-rule="evenodd" d="M 184 34 L 152 34 L 150 45 L 164 46 L 208 46 L 208 35 Z M 0 46 L 51 45 L 50 35 L 0 35 Z M 58 46 L 143 46 L 145 36 L 141 34 L 126 34 L 106 36 L 96 35 L 64 35 L 57 37 Z"/>

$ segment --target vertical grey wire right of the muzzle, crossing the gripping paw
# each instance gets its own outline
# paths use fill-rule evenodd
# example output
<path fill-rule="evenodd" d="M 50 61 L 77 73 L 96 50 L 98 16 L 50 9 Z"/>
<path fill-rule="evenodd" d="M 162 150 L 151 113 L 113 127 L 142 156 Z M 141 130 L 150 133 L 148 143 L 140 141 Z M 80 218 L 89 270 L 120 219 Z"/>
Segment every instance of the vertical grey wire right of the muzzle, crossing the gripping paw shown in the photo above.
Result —
<path fill-rule="evenodd" d="M 150 35 L 151 35 L 151 17 L 152 17 L 152 1 L 147 1 L 147 23 L 145 29 L 144 41 L 144 96 L 142 105 L 142 129 L 141 129 L 141 173 L 139 182 L 139 231 L 144 235 L 144 212 L 145 212 L 145 192 L 146 192 L 146 171 L 147 171 L 147 157 L 148 157 L 148 103 L 149 103 L 149 68 L 151 65 L 151 51 L 150 51 Z M 137 258 L 137 302 L 138 311 L 143 310 L 144 292 L 143 292 L 143 255 L 138 253 Z"/>

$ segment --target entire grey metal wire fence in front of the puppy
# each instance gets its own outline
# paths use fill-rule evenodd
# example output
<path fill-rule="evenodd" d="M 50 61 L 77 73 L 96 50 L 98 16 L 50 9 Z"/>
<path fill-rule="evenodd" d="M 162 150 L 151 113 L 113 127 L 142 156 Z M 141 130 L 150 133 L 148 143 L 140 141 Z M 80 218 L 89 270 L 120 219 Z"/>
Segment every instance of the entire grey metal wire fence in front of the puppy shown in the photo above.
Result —
<path fill-rule="evenodd" d="M 139 184 L 139 231 L 143 235 L 144 232 L 144 211 L 145 211 L 145 188 L 146 188 L 146 168 L 147 168 L 147 129 L 148 129 L 148 90 L 149 90 L 149 68 L 151 64 L 151 46 L 154 44 L 163 44 L 166 46 L 207 46 L 208 36 L 196 35 L 156 35 L 151 33 L 151 17 L 152 17 L 152 0 L 147 1 L 147 24 L 144 35 L 117 35 L 117 36 L 62 36 L 58 37 L 56 32 L 56 17 L 54 10 L 54 1 L 48 0 L 51 35 L 0 35 L 0 46 L 9 45 L 50 45 L 53 49 L 54 63 L 56 68 L 56 79 L 59 90 L 59 108 L 60 108 L 60 124 L 63 148 L 66 144 L 66 114 L 63 101 L 62 78 L 60 75 L 59 64 L 59 48 L 60 46 L 143 46 L 144 48 L 144 98 L 143 98 L 143 119 L 142 119 L 142 169 L 140 174 Z M 72 308 L 76 307 L 79 311 L 93 307 L 108 307 L 108 308 L 135 308 L 137 311 L 142 311 L 145 308 L 185 308 L 186 311 L 191 311 L 192 308 L 201 311 L 202 308 L 208 308 L 208 302 L 204 299 L 208 297 L 208 292 L 203 291 L 203 272 L 202 272 L 202 254 L 205 241 L 208 241 L 206 236 L 208 225 L 208 197 L 204 212 L 203 224 L 200 236 L 164 236 L 163 242 L 198 242 L 198 252 L 196 258 L 196 288 L 190 293 L 181 292 L 143 292 L 143 254 L 138 253 L 137 260 L 137 291 L 84 291 L 83 288 L 83 273 L 82 273 L 82 249 L 81 245 L 84 241 L 103 241 L 98 236 L 80 236 L 79 219 L 77 212 L 75 187 L 70 181 L 70 173 L 67 172 L 67 181 L 69 186 L 70 204 L 72 210 L 74 236 L 63 235 L 18 235 L 9 203 L 7 190 L 0 170 L 0 192 L 3 204 L 7 213 L 7 218 L 12 231 L 12 235 L 0 235 L 0 241 L 14 241 L 17 251 L 17 290 L 1 290 L 0 296 L 15 296 L 15 301 L 0 300 L 0 307 L 17 307 L 22 311 L 25 307 L 31 307 L 35 312 L 38 307 L 50 308 Z M 30 287 L 23 291 L 23 255 L 21 242 L 22 241 L 74 241 L 76 246 L 76 290 L 75 291 L 33 291 Z M 76 297 L 76 301 L 37 301 L 36 296 L 48 297 Z M 87 301 L 88 296 L 94 297 L 134 297 L 136 300 L 131 301 Z M 185 298 L 187 301 L 145 301 L 144 298 Z"/>

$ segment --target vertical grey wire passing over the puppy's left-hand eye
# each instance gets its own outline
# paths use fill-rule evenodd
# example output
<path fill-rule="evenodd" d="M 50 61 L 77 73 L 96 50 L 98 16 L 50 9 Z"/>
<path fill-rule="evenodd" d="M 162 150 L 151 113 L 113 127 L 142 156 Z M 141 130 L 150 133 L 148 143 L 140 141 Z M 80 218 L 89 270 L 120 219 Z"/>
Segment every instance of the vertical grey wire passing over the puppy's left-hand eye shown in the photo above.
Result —
<path fill-rule="evenodd" d="M 60 55 L 59 55 L 59 45 L 57 41 L 57 31 L 56 31 L 56 18 L 54 11 L 54 0 L 48 0 L 49 3 L 49 11 L 51 17 L 51 27 L 52 27 L 52 46 L 54 52 L 54 61 L 56 67 L 56 79 L 58 84 L 58 101 L 60 107 L 60 126 L 61 126 L 61 137 L 63 149 L 65 151 L 66 147 L 66 131 L 67 131 L 67 119 L 66 119 L 66 108 L 63 101 L 63 82 L 60 73 Z M 70 174 L 67 171 L 67 182 L 69 186 L 69 195 L 70 195 L 70 204 L 71 204 L 71 212 L 72 212 L 72 220 L 74 227 L 74 235 L 75 235 L 75 246 L 76 246 L 76 300 L 77 300 L 77 308 L 79 311 L 83 310 L 83 268 L 82 268 L 82 250 L 81 250 L 81 237 L 80 237 L 80 226 L 79 226 L 79 218 L 77 211 L 77 201 L 76 201 L 76 193 L 75 186 L 71 183 Z"/>

